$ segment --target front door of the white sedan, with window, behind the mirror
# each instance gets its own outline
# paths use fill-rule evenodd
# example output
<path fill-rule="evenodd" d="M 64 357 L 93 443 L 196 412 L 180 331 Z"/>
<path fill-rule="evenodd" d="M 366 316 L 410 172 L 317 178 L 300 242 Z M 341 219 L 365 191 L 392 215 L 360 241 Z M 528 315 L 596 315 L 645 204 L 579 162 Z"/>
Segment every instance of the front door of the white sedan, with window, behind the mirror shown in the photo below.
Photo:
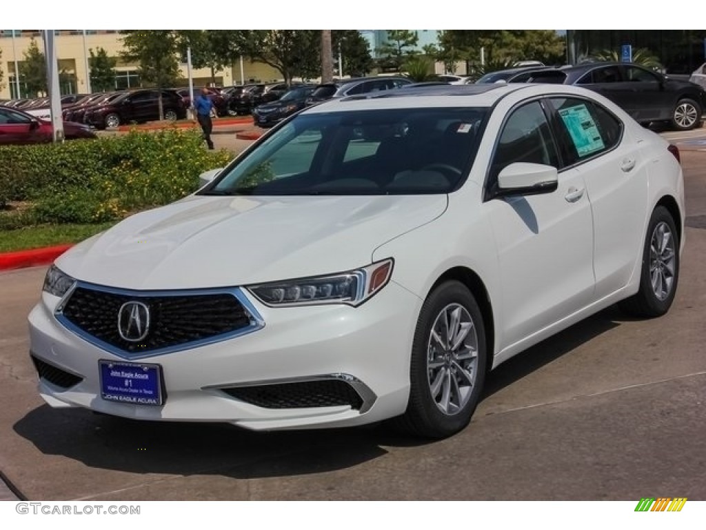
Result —
<path fill-rule="evenodd" d="M 486 188 L 511 163 L 560 168 L 558 189 L 546 194 L 486 201 L 498 252 L 502 285 L 503 345 L 554 324 L 592 300 L 593 225 L 585 182 L 578 170 L 561 168 L 546 105 L 515 108 L 501 127 Z"/>

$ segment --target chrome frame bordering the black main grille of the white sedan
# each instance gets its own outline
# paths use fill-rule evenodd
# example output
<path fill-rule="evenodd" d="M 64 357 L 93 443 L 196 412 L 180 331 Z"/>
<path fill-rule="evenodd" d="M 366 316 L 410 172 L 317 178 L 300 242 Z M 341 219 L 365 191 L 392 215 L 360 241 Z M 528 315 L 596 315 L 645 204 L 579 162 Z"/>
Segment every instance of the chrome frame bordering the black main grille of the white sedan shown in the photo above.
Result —
<path fill-rule="evenodd" d="M 129 296 L 131 298 L 134 298 L 135 300 L 140 300 L 140 298 L 148 298 L 148 297 L 168 297 L 168 296 L 189 296 L 189 295 L 214 295 L 214 294 L 229 294 L 234 296 L 243 306 L 246 314 L 248 315 L 250 319 L 250 324 L 249 326 L 245 326 L 244 328 L 236 329 L 235 331 L 231 331 L 229 333 L 224 333 L 208 338 L 202 338 L 198 341 L 191 341 L 191 342 L 186 342 L 179 344 L 177 346 L 167 346 L 166 348 L 159 348 L 157 350 L 152 350 L 148 351 L 145 353 L 129 353 L 124 350 L 121 350 L 120 348 L 117 348 L 116 346 L 113 346 L 112 344 L 109 344 L 107 342 L 101 341 L 100 338 L 96 338 L 95 336 L 92 336 L 80 327 L 76 326 L 76 324 L 73 324 L 73 322 L 69 321 L 66 317 L 64 317 L 64 307 L 66 307 L 66 303 L 68 302 L 69 298 L 71 298 L 71 295 L 73 294 L 73 291 L 76 290 L 76 288 L 85 288 L 85 289 L 90 289 L 90 290 L 97 290 L 97 291 L 102 291 L 104 293 L 112 293 L 116 295 L 124 295 L 124 296 Z M 101 348 L 102 350 L 107 351 L 108 353 L 112 353 L 113 355 L 116 355 L 116 357 L 127 359 L 127 360 L 135 360 L 135 359 L 145 359 L 145 358 L 150 358 L 150 357 L 156 357 L 157 355 L 166 355 L 167 353 L 174 353 L 177 351 L 184 351 L 184 350 L 190 350 L 192 348 L 198 348 L 200 346 L 206 346 L 208 344 L 214 344 L 217 342 L 222 342 L 222 341 L 227 341 L 231 338 L 236 338 L 239 336 L 251 334 L 254 331 L 258 331 L 258 329 L 262 329 L 265 327 L 265 321 L 263 320 L 263 317 L 258 313 L 256 310 L 255 306 L 252 305 L 248 297 L 245 295 L 243 290 L 241 288 L 206 288 L 206 289 L 183 289 L 183 290 L 134 290 L 134 289 L 121 289 L 121 288 L 114 288 L 114 287 L 107 287 L 105 285 L 96 285 L 95 283 L 88 283 L 88 282 L 83 282 L 83 281 L 76 281 L 71 285 L 71 288 L 68 290 L 68 292 L 61 298 L 59 305 L 56 306 L 56 310 L 54 310 L 54 317 L 56 317 L 56 320 L 64 326 L 68 331 L 71 331 L 73 334 L 76 334 L 80 338 L 83 338 L 84 341 L 92 344 L 93 346 L 97 346 L 98 348 Z M 117 325 L 117 320 L 116 320 L 116 325 Z"/>

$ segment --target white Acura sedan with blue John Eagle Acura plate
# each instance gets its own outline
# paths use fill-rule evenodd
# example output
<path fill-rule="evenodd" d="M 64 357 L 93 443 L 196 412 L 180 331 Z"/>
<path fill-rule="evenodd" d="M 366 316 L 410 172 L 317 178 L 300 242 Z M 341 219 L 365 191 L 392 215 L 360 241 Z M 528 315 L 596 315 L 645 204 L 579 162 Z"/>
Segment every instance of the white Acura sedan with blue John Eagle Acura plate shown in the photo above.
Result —
<path fill-rule="evenodd" d="M 60 257 L 30 354 L 54 407 L 445 437 L 513 355 L 669 310 L 683 220 L 676 148 L 594 92 L 334 100 Z"/>

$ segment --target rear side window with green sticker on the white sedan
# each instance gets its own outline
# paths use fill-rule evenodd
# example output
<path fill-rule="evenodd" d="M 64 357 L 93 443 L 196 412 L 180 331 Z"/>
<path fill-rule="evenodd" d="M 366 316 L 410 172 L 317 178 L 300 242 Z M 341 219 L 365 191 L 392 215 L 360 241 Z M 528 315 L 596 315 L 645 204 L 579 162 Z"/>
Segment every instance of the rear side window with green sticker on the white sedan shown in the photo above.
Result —
<path fill-rule="evenodd" d="M 603 107 L 578 98 L 552 98 L 558 114 L 566 163 L 573 165 L 614 148 L 623 134 L 623 124 Z"/>

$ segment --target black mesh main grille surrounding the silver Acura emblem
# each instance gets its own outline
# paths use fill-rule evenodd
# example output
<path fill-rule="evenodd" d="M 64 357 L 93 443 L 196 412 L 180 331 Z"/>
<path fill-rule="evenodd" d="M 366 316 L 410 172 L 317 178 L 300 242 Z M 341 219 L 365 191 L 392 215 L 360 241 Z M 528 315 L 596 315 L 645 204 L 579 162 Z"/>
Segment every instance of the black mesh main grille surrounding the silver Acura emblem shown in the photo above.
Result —
<path fill-rule="evenodd" d="M 120 336 L 118 319 L 126 302 L 148 307 L 148 334 L 139 343 Z M 227 334 L 251 324 L 249 314 L 229 293 L 133 296 L 78 287 L 63 317 L 80 331 L 127 353 L 140 354 Z"/>

